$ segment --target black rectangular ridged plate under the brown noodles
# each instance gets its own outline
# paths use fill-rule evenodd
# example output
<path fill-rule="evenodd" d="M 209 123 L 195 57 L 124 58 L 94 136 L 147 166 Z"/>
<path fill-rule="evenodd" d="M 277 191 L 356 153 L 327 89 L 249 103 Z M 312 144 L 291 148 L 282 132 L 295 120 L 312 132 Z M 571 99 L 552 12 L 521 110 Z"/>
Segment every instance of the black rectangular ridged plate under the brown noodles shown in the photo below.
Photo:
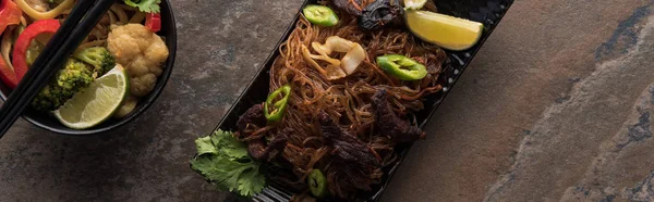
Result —
<path fill-rule="evenodd" d="M 306 0 L 304 1 L 304 5 L 316 3 L 316 0 Z M 438 8 L 439 13 L 453 15 L 462 18 L 468 18 L 471 21 L 476 21 L 484 24 L 484 33 L 482 34 L 482 38 L 469 50 L 465 51 L 446 51 L 448 55 L 448 61 L 444 64 L 444 71 L 440 74 L 439 80 L 440 85 L 443 85 L 443 91 L 438 93 L 431 94 L 425 99 L 425 109 L 415 113 L 417 123 L 421 128 L 424 128 L 425 124 L 429 119 L 429 117 L 436 111 L 436 108 L 443 102 L 447 93 L 452 89 L 457 79 L 461 76 L 465 67 L 472 61 L 472 58 L 476 54 L 476 52 L 481 49 L 482 45 L 486 41 L 493 29 L 497 26 L 501 17 L 509 10 L 513 0 L 435 0 L 436 7 Z M 283 37 L 277 43 L 277 47 L 287 40 L 291 31 L 295 28 L 295 22 L 298 22 L 298 17 L 290 24 L 287 28 Z M 279 50 L 276 48 L 268 59 L 266 59 L 266 63 L 264 63 L 263 67 L 256 74 L 256 76 L 252 79 L 245 91 L 239 97 L 235 104 L 228 111 L 225 115 L 220 124 L 216 127 L 216 129 L 222 130 L 237 130 L 237 121 L 239 116 L 243 114 L 247 109 L 250 109 L 254 104 L 258 104 L 265 101 L 268 96 L 268 87 L 269 87 L 269 71 L 270 66 L 275 62 L 275 59 L 279 55 Z M 400 163 L 407 156 L 411 146 L 400 146 L 396 149 L 399 153 L 399 160 L 391 166 L 388 166 L 385 169 L 385 174 L 382 177 L 382 182 L 375 187 L 373 187 L 373 191 L 362 193 L 360 195 L 361 201 L 378 201 L 382 198 L 382 193 L 384 193 L 390 178 L 399 167 Z M 267 189 L 264 190 L 263 193 L 254 197 L 253 201 L 288 201 L 290 200 L 293 193 L 287 191 L 283 187 L 276 186 L 275 184 L 270 185 Z"/>

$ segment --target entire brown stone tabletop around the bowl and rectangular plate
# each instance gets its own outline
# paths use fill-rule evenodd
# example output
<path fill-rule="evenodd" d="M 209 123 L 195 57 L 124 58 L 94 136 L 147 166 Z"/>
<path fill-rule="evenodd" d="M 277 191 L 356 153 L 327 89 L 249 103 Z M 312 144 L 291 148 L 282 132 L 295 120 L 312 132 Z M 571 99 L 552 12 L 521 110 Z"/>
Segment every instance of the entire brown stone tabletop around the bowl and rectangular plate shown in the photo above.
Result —
<path fill-rule="evenodd" d="M 301 0 L 177 0 L 173 77 L 111 134 L 20 121 L 0 201 L 232 201 L 190 168 Z M 383 201 L 654 201 L 654 1 L 516 0 Z"/>

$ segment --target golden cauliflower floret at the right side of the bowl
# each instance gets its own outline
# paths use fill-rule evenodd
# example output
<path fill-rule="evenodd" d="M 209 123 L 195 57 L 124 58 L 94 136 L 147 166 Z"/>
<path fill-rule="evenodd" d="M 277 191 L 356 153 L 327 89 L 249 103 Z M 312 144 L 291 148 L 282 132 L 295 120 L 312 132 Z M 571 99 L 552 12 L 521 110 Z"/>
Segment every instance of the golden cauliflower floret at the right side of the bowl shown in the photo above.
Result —
<path fill-rule="evenodd" d="M 109 33 L 107 48 L 116 56 L 116 62 L 128 71 L 130 93 L 147 96 L 164 72 L 161 64 L 169 54 L 161 37 L 141 24 L 116 26 Z"/>

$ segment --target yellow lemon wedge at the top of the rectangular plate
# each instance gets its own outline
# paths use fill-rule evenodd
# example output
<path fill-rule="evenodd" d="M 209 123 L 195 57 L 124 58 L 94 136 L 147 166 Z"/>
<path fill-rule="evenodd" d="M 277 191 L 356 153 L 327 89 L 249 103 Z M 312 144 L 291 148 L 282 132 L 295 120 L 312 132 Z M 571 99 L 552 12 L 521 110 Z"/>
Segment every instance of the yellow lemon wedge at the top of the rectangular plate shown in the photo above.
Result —
<path fill-rule="evenodd" d="M 415 36 L 455 51 L 474 46 L 484 29 L 481 23 L 428 11 L 408 10 L 404 17 L 407 26 Z"/>

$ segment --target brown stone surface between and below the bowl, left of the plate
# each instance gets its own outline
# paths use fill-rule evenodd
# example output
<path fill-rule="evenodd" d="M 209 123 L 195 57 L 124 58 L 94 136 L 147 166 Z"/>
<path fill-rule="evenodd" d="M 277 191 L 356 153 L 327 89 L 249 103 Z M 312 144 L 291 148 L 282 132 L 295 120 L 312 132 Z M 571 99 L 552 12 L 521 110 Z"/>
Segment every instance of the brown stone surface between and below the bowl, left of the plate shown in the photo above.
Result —
<path fill-rule="evenodd" d="M 0 201 L 222 201 L 191 171 L 193 140 L 218 124 L 301 0 L 173 0 L 172 77 L 130 125 L 66 137 L 19 121 L 0 140 Z"/>

